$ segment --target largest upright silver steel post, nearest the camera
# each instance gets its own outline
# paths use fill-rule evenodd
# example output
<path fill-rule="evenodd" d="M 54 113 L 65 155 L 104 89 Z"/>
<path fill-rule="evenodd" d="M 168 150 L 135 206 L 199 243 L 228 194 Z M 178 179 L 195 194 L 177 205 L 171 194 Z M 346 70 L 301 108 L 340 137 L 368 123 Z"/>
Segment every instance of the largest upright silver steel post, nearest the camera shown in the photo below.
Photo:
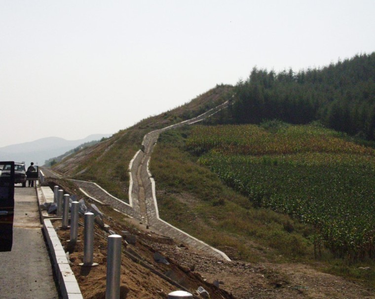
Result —
<path fill-rule="evenodd" d="M 106 299 L 120 299 L 121 240 L 118 234 L 108 236 Z"/>

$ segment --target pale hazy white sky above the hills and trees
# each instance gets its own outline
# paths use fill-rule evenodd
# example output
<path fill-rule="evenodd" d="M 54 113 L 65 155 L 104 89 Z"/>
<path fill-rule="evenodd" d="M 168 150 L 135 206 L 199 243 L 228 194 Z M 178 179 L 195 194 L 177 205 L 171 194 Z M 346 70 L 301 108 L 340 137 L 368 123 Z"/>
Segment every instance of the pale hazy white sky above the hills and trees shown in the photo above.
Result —
<path fill-rule="evenodd" d="M 116 133 L 254 66 L 375 51 L 375 0 L 0 0 L 0 147 Z"/>

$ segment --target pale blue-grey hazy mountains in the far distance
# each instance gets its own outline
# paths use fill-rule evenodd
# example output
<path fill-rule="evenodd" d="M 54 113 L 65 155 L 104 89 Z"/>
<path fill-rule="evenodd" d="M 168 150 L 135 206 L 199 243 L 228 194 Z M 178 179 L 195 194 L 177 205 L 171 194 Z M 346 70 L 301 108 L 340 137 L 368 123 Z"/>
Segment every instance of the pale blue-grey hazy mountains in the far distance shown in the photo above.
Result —
<path fill-rule="evenodd" d="M 0 161 L 25 162 L 26 166 L 34 162 L 35 165 L 42 166 L 46 160 L 60 156 L 78 145 L 109 136 L 111 134 L 92 134 L 78 140 L 46 137 L 31 142 L 7 145 L 0 147 Z"/>

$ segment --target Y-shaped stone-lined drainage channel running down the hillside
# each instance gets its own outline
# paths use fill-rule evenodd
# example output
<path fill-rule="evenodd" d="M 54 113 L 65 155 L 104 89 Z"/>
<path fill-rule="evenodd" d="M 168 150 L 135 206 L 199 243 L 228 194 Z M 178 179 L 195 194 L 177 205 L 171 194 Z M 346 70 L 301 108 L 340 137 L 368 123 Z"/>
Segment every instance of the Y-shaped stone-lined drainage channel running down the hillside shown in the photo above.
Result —
<path fill-rule="evenodd" d="M 117 199 L 93 182 L 72 180 L 88 197 L 100 202 L 110 204 L 116 210 L 138 219 L 146 227 L 152 227 L 159 233 L 186 243 L 195 249 L 209 253 L 221 260 L 230 261 L 225 253 L 211 247 L 197 238 L 185 233 L 159 217 L 157 200 L 155 196 L 155 181 L 149 171 L 149 162 L 152 150 L 160 133 L 191 125 L 214 115 L 229 105 L 223 104 L 187 121 L 147 133 L 141 145 L 141 149 L 134 155 L 129 164 L 129 203 L 124 199 Z M 53 173 L 51 173 L 53 174 Z"/>

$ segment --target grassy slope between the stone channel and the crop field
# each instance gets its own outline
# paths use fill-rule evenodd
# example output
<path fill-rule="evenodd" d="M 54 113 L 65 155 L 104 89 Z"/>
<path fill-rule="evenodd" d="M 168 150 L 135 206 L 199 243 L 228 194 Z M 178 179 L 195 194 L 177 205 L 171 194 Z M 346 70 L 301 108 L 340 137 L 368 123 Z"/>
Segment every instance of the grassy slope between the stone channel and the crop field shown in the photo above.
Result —
<path fill-rule="evenodd" d="M 255 262 L 262 257 L 290 260 L 310 256 L 311 242 L 303 237 L 308 228 L 287 215 L 253 208 L 209 168 L 198 165 L 198 157 L 184 150 L 189 131 L 186 127 L 163 133 L 152 155 L 150 170 L 161 217 L 229 251 L 231 258 Z M 284 227 L 289 226 L 296 232 L 287 233 Z"/>

